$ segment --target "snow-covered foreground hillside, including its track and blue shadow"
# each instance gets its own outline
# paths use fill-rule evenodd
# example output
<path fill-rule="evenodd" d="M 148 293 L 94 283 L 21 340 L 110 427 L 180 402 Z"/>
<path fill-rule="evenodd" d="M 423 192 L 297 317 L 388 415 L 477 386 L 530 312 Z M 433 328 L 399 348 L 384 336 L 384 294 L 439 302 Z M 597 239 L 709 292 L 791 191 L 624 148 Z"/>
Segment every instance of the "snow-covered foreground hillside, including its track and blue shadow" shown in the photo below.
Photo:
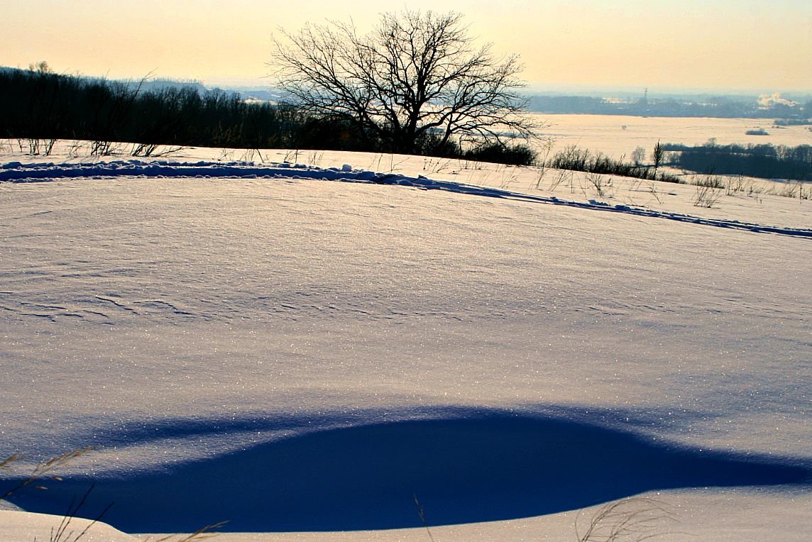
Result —
<path fill-rule="evenodd" d="M 0 494 L 94 447 L 11 499 L 28 512 L 95 482 L 80 515 L 114 502 L 127 533 L 576 540 L 643 496 L 673 516 L 657 540 L 812 538 L 810 200 L 4 148 L 0 459 L 26 460 Z M 54 523 L 0 511 L 0 539 Z"/>

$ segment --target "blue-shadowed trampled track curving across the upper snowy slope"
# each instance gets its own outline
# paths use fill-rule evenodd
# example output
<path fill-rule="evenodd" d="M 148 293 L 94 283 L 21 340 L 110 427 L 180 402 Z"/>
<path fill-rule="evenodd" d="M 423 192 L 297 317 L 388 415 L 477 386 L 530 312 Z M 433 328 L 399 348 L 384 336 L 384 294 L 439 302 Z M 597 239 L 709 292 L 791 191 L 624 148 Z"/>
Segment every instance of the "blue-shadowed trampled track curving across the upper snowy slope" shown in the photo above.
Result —
<path fill-rule="evenodd" d="M 705 218 L 685 213 L 656 211 L 645 207 L 626 204 L 611 205 L 598 200 L 588 202 L 561 200 L 555 196 L 533 196 L 516 191 L 480 187 L 451 181 L 437 181 L 422 175 L 409 177 L 402 174 L 381 174 L 367 170 L 353 170 L 350 166 L 341 168 L 319 168 L 300 164 L 274 163 L 257 166 L 253 162 L 231 161 L 109 161 L 77 164 L 57 164 L 41 162 L 23 164 L 8 162 L 0 166 L 0 183 L 45 183 L 55 179 L 114 177 L 153 177 L 153 178 L 205 178 L 205 179 L 316 179 L 345 183 L 392 184 L 416 187 L 423 190 L 444 190 L 471 196 L 486 196 L 533 203 L 566 205 L 578 209 L 626 213 L 641 217 L 665 218 L 677 222 L 687 222 L 702 226 L 715 226 L 745 230 L 753 233 L 771 233 L 793 237 L 812 238 L 812 229 L 769 226 L 754 222 L 740 222 L 722 218 Z"/>

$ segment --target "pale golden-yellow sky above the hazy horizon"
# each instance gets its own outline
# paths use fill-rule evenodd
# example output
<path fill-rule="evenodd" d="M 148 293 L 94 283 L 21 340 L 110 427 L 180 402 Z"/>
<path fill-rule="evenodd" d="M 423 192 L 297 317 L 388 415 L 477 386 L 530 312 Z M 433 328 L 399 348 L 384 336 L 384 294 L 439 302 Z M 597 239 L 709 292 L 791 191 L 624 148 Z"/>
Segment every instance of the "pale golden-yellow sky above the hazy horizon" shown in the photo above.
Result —
<path fill-rule="evenodd" d="M 0 0 L 0 66 L 260 80 L 279 28 L 459 11 L 534 86 L 812 91 L 810 0 Z"/>

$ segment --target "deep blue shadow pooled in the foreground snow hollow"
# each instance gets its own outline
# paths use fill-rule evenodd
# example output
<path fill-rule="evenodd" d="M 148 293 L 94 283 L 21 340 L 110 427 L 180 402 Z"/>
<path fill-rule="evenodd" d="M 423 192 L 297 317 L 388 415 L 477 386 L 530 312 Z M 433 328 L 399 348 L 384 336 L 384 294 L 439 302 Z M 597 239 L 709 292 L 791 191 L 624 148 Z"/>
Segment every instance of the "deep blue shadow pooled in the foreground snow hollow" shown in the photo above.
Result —
<path fill-rule="evenodd" d="M 501 413 L 313 432 L 173 467 L 96 479 L 81 515 L 128 532 L 339 531 L 531 517 L 653 489 L 801 484 L 790 460 L 683 450 L 572 420 Z M 91 480 L 13 499 L 63 514 Z"/>

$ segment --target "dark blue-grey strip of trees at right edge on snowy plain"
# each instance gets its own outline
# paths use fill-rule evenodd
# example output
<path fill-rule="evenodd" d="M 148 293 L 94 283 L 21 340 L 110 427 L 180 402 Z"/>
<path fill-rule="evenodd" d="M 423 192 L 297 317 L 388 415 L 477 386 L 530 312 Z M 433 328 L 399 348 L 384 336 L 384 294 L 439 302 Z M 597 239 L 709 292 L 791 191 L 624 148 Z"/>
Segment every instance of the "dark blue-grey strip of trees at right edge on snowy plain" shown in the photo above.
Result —
<path fill-rule="evenodd" d="M 812 146 L 664 144 L 668 163 L 706 174 L 812 181 Z"/>

